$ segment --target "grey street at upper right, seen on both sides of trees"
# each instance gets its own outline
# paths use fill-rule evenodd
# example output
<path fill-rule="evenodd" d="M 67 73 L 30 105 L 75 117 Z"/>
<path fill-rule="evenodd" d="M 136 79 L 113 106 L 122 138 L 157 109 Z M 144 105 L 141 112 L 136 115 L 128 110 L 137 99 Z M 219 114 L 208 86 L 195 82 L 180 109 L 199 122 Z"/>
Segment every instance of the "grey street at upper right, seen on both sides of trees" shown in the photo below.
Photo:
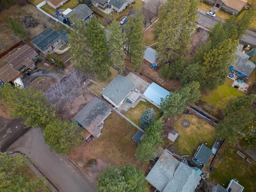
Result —
<path fill-rule="evenodd" d="M 213 27 L 219 20 L 221 20 L 221 18 L 218 18 L 218 17 L 213 18 L 211 16 L 206 15 L 206 11 L 204 10 L 198 9 L 198 11 L 200 11 L 200 13 L 198 13 L 200 17 L 196 21 L 196 23 L 207 29 Z M 243 39 L 241 39 L 239 42 L 240 44 L 243 44 L 243 45 L 248 44 L 251 47 L 256 48 L 256 33 L 248 30 L 247 35 L 244 35 Z"/>

